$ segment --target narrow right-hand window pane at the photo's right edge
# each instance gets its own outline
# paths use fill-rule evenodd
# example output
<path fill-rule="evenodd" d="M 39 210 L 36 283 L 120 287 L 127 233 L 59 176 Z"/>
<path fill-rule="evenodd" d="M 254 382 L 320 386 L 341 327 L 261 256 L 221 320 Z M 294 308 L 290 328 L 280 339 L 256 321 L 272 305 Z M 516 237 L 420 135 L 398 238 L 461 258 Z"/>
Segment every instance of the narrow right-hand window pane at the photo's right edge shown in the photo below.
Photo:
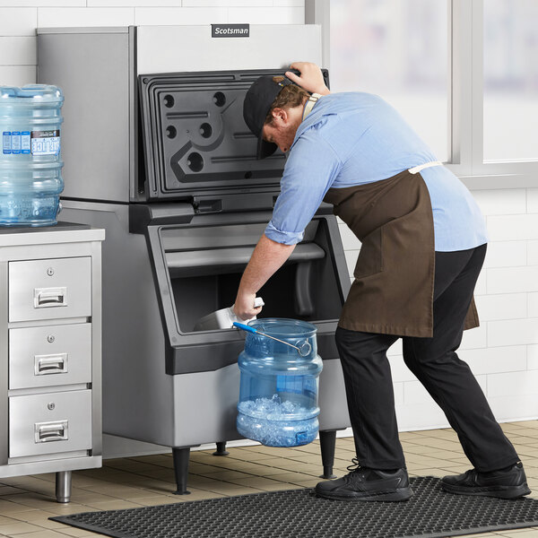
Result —
<path fill-rule="evenodd" d="M 538 159 L 538 2 L 483 4 L 483 160 Z"/>

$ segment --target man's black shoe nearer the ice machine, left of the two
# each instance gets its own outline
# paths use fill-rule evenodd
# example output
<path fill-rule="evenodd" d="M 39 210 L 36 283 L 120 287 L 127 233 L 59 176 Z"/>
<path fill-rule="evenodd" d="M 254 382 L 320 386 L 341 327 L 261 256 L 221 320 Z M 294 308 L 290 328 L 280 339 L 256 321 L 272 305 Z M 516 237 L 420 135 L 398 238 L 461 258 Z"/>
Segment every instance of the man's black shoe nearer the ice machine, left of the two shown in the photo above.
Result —
<path fill-rule="evenodd" d="M 409 477 L 405 469 L 380 471 L 357 466 L 351 473 L 338 480 L 319 482 L 316 486 L 318 497 L 336 500 L 407 500 L 412 496 Z"/>

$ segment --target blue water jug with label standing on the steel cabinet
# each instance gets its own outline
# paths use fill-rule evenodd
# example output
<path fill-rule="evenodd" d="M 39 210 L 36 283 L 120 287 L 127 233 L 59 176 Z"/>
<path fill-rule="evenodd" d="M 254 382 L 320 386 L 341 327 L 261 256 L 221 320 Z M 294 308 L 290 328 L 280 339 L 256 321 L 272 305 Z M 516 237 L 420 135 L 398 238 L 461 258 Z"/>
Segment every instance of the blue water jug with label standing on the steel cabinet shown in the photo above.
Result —
<path fill-rule="evenodd" d="M 56 224 L 64 190 L 56 86 L 0 86 L 0 225 Z"/>

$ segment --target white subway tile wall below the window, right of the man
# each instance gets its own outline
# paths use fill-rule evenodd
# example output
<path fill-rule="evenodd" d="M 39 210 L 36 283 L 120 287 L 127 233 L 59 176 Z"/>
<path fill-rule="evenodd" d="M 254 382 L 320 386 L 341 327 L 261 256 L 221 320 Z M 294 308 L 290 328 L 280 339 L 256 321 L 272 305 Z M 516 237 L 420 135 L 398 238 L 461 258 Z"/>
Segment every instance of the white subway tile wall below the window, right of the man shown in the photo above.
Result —
<path fill-rule="evenodd" d="M 474 191 L 490 244 L 476 294 L 486 343 L 460 357 L 485 376 L 499 421 L 538 414 L 538 188 Z M 474 329 L 476 330 L 476 329 Z M 467 331 L 472 334 L 473 331 Z"/>

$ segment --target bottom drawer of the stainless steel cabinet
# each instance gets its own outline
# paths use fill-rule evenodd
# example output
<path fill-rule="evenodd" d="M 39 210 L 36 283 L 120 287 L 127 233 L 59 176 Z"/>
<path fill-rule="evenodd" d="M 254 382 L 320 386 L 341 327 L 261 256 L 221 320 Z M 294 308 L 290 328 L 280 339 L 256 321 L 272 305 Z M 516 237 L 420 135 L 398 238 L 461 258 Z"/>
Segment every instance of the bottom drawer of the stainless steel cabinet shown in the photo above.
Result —
<path fill-rule="evenodd" d="M 91 448 L 91 390 L 9 398 L 9 456 Z"/>

